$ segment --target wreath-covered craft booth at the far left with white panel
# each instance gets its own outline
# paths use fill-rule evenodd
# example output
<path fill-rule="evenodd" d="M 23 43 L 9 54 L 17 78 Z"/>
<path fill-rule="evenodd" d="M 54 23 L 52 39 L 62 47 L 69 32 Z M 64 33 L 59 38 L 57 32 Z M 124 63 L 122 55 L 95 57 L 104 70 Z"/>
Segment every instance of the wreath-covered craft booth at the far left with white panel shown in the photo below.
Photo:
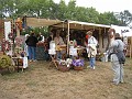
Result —
<path fill-rule="evenodd" d="M 20 57 L 19 53 L 23 38 L 20 37 L 21 25 L 18 22 L 20 21 L 12 19 L 0 20 L 0 61 L 3 63 L 0 65 L 0 70 L 8 68 L 14 72 L 16 68 L 19 72 L 20 68 L 23 70 L 28 67 L 28 57 Z"/>

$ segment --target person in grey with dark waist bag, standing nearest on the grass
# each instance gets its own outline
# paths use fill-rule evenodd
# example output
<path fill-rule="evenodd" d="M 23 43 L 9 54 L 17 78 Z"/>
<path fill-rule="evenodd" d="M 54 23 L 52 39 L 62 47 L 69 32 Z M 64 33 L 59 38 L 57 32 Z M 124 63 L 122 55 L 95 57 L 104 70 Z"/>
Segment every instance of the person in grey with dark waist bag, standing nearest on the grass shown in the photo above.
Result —
<path fill-rule="evenodd" d="M 111 52 L 110 57 L 112 63 L 112 69 L 114 72 L 112 82 L 118 85 L 119 82 L 123 82 L 123 64 L 125 62 L 125 55 L 123 53 L 124 43 L 121 41 L 119 33 L 111 31 L 110 35 L 113 35 L 112 38 L 114 38 L 110 43 L 109 47 L 109 51 Z"/>

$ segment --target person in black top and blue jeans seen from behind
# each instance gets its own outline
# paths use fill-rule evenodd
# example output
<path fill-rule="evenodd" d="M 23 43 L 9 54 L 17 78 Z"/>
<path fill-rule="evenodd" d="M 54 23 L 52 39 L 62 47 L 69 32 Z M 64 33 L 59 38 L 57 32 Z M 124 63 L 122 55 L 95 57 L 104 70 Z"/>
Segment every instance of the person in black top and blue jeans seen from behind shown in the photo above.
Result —
<path fill-rule="evenodd" d="M 28 40 L 25 41 L 26 45 L 28 45 L 28 52 L 29 52 L 29 59 L 30 62 L 35 62 L 36 61 L 36 43 L 37 43 L 37 38 L 35 36 L 35 34 L 32 32 L 31 35 L 28 37 Z"/>

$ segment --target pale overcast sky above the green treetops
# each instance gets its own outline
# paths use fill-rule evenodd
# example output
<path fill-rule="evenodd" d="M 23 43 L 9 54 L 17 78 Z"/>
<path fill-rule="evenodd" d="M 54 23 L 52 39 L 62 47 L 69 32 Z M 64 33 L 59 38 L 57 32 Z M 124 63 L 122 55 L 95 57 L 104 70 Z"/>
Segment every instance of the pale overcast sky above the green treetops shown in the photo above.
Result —
<path fill-rule="evenodd" d="M 54 2 L 58 3 L 61 0 L 54 0 Z M 67 3 L 69 0 L 65 0 Z M 121 12 L 124 10 L 129 10 L 132 13 L 132 0 L 76 0 L 76 6 L 96 8 L 99 12 Z"/>

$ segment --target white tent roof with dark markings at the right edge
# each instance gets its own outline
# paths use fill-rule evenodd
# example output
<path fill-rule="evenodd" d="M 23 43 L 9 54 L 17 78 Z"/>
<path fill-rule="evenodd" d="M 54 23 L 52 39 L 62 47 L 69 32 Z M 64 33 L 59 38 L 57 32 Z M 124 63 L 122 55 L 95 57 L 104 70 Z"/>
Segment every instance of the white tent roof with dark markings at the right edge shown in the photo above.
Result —
<path fill-rule="evenodd" d="M 132 30 L 129 26 L 118 26 L 111 25 L 116 30 L 116 33 L 119 33 L 121 36 L 132 36 Z"/>

